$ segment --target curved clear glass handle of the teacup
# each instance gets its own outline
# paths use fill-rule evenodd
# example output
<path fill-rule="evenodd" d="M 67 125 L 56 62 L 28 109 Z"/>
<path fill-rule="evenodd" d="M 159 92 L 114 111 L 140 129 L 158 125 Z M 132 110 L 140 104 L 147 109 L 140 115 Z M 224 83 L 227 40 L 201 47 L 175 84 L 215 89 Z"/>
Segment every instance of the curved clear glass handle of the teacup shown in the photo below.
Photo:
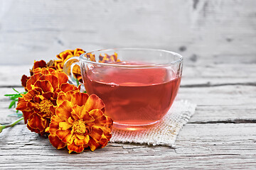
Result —
<path fill-rule="evenodd" d="M 78 65 L 80 67 L 79 57 L 71 57 L 70 59 L 68 59 L 64 63 L 63 72 L 65 72 L 65 74 L 68 75 L 68 81 L 71 84 L 77 85 L 77 80 L 75 79 L 75 76 L 73 74 L 73 68 L 75 65 Z M 69 72 L 69 68 L 70 68 L 70 72 Z"/>

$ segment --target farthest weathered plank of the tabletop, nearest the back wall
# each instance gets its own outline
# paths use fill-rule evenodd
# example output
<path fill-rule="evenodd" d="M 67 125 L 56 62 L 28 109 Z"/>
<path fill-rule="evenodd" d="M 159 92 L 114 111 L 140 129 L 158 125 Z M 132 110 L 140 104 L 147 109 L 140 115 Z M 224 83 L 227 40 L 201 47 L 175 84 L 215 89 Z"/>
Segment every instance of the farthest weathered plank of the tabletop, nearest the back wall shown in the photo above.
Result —
<path fill-rule="evenodd" d="M 22 75 L 29 75 L 31 67 L 32 64 L 1 66 L 0 86 L 21 86 Z M 256 86 L 256 64 L 204 63 L 201 66 L 196 66 L 185 63 L 183 67 L 181 86 L 219 86 L 228 84 Z"/>

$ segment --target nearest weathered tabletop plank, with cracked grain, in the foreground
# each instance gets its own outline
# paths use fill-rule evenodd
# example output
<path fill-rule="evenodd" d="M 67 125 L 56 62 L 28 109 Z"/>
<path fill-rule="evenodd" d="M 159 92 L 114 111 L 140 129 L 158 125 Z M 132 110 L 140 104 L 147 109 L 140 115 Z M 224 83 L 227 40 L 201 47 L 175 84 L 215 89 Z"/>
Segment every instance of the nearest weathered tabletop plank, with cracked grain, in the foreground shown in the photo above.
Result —
<path fill-rule="evenodd" d="M 48 139 L 30 132 L 25 125 L 17 125 L 0 135 L 0 167 L 254 169 L 255 131 L 256 124 L 187 124 L 178 135 L 176 149 L 110 143 L 95 152 L 68 154 L 53 148 Z"/>

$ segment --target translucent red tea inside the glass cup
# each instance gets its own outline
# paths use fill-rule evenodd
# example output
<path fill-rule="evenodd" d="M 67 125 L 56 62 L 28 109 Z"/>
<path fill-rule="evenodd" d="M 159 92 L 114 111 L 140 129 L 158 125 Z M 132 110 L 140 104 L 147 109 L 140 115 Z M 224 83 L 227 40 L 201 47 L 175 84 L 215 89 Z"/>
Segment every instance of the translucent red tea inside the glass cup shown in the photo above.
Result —
<path fill-rule="evenodd" d="M 83 81 L 88 94 L 102 98 L 105 113 L 115 124 L 136 128 L 156 123 L 169 111 L 181 77 L 170 67 L 95 66 L 87 70 Z"/>

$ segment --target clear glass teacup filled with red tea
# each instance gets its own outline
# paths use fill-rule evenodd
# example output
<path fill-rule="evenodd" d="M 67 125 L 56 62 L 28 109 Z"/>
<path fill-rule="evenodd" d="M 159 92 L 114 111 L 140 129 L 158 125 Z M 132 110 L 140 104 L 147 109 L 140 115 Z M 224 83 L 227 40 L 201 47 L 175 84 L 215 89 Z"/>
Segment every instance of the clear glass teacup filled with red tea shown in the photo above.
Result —
<path fill-rule="evenodd" d="M 80 66 L 87 94 L 105 103 L 114 128 L 138 130 L 166 115 L 178 93 L 182 57 L 166 50 L 119 48 L 72 57 L 64 70 Z M 70 81 L 75 84 L 72 72 Z"/>

